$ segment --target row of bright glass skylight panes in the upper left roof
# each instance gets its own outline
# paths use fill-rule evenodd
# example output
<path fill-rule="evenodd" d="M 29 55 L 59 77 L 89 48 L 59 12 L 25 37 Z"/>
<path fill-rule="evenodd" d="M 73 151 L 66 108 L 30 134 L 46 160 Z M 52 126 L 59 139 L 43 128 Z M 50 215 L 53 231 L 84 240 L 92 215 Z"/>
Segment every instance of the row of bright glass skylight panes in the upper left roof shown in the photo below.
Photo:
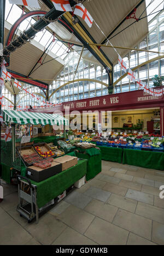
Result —
<path fill-rule="evenodd" d="M 19 19 L 22 14 L 22 10 L 16 4 L 10 4 L 9 0 L 5 2 L 5 20 L 7 20 L 11 25 Z M 27 18 L 23 21 L 20 26 L 19 30 L 24 31 L 29 29 L 31 24 L 34 24 L 36 21 L 33 18 Z M 44 29 L 41 32 L 38 32 L 34 38 L 35 41 L 42 44 L 45 48 L 48 47 L 50 42 L 52 42 L 53 35 L 48 30 Z M 61 59 L 66 58 L 68 47 L 60 41 L 52 42 L 49 48 L 50 52 L 56 54 Z"/>

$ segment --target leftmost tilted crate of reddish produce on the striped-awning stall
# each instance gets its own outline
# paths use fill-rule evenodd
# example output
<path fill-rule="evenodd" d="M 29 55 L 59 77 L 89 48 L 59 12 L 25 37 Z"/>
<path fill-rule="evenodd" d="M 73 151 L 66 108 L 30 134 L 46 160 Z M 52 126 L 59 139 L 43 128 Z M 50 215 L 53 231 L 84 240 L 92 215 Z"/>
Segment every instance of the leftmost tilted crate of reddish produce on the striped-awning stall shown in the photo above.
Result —
<path fill-rule="evenodd" d="M 22 160 L 26 166 L 32 166 L 33 163 L 42 160 L 43 158 L 34 150 L 33 146 L 21 147 L 19 150 L 19 155 L 22 157 Z"/>

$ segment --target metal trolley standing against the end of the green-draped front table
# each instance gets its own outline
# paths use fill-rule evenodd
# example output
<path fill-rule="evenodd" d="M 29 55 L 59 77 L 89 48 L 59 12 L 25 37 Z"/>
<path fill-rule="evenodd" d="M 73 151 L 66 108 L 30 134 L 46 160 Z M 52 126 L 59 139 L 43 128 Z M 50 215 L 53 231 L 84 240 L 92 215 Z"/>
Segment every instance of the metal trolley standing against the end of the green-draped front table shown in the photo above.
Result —
<path fill-rule="evenodd" d="M 37 186 L 32 185 L 30 179 L 17 175 L 18 184 L 18 195 L 19 204 L 17 205 L 17 212 L 20 216 L 25 217 L 28 223 L 36 218 L 36 223 L 38 224 L 39 211 L 37 206 Z"/>

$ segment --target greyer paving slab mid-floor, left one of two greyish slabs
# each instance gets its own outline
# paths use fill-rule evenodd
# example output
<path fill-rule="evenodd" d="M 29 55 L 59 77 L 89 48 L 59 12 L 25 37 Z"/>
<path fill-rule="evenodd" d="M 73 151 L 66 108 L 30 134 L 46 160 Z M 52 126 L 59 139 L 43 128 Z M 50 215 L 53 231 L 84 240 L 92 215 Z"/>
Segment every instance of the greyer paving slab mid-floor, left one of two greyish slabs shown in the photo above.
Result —
<path fill-rule="evenodd" d="M 110 192 L 104 191 L 101 189 L 97 189 L 97 187 L 90 187 L 85 193 L 85 196 L 92 197 L 98 199 L 102 202 L 106 202 L 109 196 L 111 195 Z M 90 200 L 91 201 L 91 200 Z"/>

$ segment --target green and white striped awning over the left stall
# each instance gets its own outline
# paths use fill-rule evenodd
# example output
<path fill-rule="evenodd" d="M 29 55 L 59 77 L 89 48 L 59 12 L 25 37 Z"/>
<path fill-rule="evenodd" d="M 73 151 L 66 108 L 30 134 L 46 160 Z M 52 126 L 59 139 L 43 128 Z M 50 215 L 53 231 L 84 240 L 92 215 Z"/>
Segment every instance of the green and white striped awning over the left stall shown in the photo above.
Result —
<path fill-rule="evenodd" d="M 57 124 L 69 125 L 68 119 L 57 114 L 46 114 L 37 112 L 27 112 L 27 111 L 16 111 L 16 110 L 3 110 L 3 122 L 5 123 L 19 123 L 19 124 L 50 124 L 51 126 Z"/>

